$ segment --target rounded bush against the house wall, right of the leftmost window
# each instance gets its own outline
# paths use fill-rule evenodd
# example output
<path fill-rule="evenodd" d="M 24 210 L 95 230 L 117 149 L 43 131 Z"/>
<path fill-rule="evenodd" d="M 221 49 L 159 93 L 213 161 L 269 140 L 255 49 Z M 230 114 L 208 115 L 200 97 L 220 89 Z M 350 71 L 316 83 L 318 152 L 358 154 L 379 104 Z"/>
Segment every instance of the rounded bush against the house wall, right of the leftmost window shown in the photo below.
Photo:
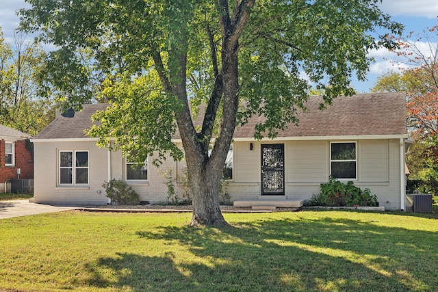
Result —
<path fill-rule="evenodd" d="M 105 181 L 102 187 L 105 188 L 112 204 L 140 204 L 138 194 L 125 181 L 113 178 L 109 182 Z"/>

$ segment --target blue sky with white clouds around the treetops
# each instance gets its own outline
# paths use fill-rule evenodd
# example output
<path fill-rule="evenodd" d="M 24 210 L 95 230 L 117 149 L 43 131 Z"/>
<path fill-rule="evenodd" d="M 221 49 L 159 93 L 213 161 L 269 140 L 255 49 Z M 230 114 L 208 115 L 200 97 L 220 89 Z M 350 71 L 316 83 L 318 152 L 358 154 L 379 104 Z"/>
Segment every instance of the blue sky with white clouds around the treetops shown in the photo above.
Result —
<path fill-rule="evenodd" d="M 0 26 L 3 30 L 3 37 L 10 44 L 13 43 L 14 29 L 19 23 L 15 11 L 26 7 L 29 7 L 29 4 L 25 3 L 25 0 L 0 0 Z M 428 27 L 438 25 L 438 0 L 383 0 L 381 9 L 391 15 L 394 21 L 405 26 L 404 36 L 409 31 L 421 32 Z M 437 47 L 438 36 L 435 36 L 432 42 Z M 421 43 L 419 45 L 422 47 Z M 370 66 L 368 81 L 352 82 L 353 87 L 360 93 L 369 92 L 376 83 L 377 77 L 384 72 L 397 70 L 398 66 L 404 66 L 398 63 L 400 60 L 396 58 L 396 54 L 386 50 L 372 51 L 370 55 L 376 59 L 376 62 Z"/>

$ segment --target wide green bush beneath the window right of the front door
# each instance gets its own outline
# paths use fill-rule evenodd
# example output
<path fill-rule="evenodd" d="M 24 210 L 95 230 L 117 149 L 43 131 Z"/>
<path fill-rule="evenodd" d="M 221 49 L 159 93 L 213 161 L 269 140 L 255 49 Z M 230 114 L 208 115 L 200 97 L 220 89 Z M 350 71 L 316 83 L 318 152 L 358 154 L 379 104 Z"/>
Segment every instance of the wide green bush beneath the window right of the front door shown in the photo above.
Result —
<path fill-rule="evenodd" d="M 328 183 L 322 183 L 320 192 L 314 194 L 309 206 L 331 206 L 331 207 L 376 207 L 378 206 L 376 195 L 372 195 L 370 189 L 360 189 L 352 181 L 342 183 L 333 176 L 329 176 Z"/>

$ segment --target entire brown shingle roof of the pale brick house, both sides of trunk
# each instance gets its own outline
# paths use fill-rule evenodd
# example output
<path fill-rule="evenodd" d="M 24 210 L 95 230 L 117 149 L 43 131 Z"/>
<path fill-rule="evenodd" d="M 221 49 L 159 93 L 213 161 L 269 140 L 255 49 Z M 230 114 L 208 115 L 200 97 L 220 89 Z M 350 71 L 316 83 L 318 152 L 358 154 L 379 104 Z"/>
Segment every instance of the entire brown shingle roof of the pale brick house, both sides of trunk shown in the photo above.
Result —
<path fill-rule="evenodd" d="M 309 110 L 298 114 L 299 127 L 290 124 L 285 131 L 279 132 L 278 137 L 407 135 L 406 95 L 402 92 L 338 97 L 324 111 L 318 109 L 320 103 L 320 96 L 311 96 L 306 103 Z M 76 112 L 73 117 L 57 116 L 34 138 L 86 137 L 83 130 L 92 127 L 91 115 L 108 106 L 83 105 L 83 110 Z M 243 127 L 235 129 L 234 137 L 253 137 L 254 126 L 261 121 L 263 117 L 250 118 Z M 179 138 L 178 133 L 175 138 Z"/>

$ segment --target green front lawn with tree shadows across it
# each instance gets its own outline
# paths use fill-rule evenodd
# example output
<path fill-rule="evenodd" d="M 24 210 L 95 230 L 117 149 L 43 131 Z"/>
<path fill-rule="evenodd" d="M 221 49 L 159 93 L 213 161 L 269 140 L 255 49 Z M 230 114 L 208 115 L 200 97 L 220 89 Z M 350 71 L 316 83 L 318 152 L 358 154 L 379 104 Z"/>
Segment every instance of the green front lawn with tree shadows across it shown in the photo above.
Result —
<path fill-rule="evenodd" d="M 6 291 L 436 291 L 437 214 L 69 211 L 0 220 Z"/>

